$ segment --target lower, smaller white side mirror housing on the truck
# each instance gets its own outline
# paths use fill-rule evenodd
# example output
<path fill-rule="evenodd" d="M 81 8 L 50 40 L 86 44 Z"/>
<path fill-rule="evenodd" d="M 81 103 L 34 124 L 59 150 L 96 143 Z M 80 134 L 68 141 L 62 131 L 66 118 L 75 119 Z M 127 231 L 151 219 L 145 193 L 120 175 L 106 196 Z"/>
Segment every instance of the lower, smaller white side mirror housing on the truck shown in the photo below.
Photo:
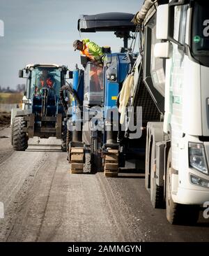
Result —
<path fill-rule="evenodd" d="M 155 43 L 155 58 L 169 59 L 172 55 L 173 45 L 169 41 L 165 43 Z"/>

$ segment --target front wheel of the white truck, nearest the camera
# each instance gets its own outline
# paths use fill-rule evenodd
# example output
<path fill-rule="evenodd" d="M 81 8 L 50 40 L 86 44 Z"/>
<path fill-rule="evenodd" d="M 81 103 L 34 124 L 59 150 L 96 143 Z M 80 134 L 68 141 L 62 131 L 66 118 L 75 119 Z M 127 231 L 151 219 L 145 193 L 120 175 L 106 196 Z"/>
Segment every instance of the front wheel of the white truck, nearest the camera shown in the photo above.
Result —
<path fill-rule="evenodd" d="M 174 225 L 194 225 L 199 219 L 199 206 L 177 204 L 171 197 L 171 149 L 167 161 L 167 220 Z"/>

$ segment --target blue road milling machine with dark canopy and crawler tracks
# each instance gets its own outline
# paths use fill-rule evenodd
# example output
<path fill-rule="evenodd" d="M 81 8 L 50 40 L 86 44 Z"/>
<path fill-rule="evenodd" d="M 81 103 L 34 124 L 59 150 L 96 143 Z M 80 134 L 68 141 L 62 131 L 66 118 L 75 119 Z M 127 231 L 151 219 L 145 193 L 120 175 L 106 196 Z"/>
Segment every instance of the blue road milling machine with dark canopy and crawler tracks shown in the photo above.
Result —
<path fill-rule="evenodd" d="M 132 69 L 137 55 L 127 48 L 127 41 L 134 39 L 131 31 L 136 27 L 130 13 L 102 13 L 82 15 L 78 20 L 80 32 L 114 31 L 123 38 L 119 52 L 111 53 L 103 47 L 106 55 L 101 69 L 81 56 L 83 69 L 72 72 L 73 85 L 61 88 L 72 92 L 72 106 L 67 110 L 68 161 L 71 173 L 102 171 L 108 177 L 118 176 L 119 167 L 125 164 L 126 140 L 119 124 L 118 94 Z M 63 101 L 64 102 L 64 101 Z M 86 116 L 88 118 L 86 118 Z"/>

